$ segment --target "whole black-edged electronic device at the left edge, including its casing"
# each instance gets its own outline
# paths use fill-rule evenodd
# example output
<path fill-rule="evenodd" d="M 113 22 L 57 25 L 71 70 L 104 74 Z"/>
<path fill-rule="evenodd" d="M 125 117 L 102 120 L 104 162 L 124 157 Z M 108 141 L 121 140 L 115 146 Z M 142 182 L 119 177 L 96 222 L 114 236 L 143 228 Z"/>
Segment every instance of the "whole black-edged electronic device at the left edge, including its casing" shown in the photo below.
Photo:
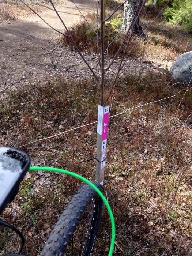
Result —
<path fill-rule="evenodd" d="M 0 213 L 18 193 L 29 167 L 27 154 L 15 148 L 0 147 Z"/>

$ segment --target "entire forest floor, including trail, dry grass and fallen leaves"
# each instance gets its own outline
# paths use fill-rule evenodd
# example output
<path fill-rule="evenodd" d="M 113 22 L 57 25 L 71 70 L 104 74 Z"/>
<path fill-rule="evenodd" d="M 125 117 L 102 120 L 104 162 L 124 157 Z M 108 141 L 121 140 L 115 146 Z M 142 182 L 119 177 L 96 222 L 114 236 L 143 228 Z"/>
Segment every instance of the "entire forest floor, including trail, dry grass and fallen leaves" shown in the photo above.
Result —
<path fill-rule="evenodd" d="M 25 151 L 32 166 L 63 168 L 94 180 L 95 162 L 81 161 L 96 155 L 96 124 L 26 146 L 96 121 L 100 95 L 78 53 L 30 10 L 18 1 L 10 2 L 3 0 L 0 5 L 0 146 Z M 97 1 L 76 3 L 95 25 Z M 107 15 L 120 3 L 107 0 Z M 64 31 L 47 0 L 30 6 Z M 72 31 L 83 33 L 79 30 L 84 27 L 83 18 L 71 1 L 57 1 L 56 7 Z M 157 12 L 146 5 L 142 26 Z M 123 16 L 123 8 L 118 14 Z M 83 49 L 99 75 L 97 54 L 90 52 L 87 42 Z M 109 101 L 110 116 L 127 109 L 109 119 L 105 167 L 105 196 L 116 222 L 116 256 L 192 255 L 192 87 L 169 74 L 171 64 L 189 50 L 191 34 L 160 17 L 128 58 Z M 105 95 L 119 61 L 109 70 Z M 144 103 L 150 104 L 128 110 Z M 65 204 L 81 184 L 64 174 L 27 173 L 15 200 L 1 215 L 24 234 L 23 254 L 39 255 Z M 0 252 L 16 253 L 18 245 L 15 233 L 0 226 Z M 94 255 L 108 255 L 109 245 L 105 214 Z"/>

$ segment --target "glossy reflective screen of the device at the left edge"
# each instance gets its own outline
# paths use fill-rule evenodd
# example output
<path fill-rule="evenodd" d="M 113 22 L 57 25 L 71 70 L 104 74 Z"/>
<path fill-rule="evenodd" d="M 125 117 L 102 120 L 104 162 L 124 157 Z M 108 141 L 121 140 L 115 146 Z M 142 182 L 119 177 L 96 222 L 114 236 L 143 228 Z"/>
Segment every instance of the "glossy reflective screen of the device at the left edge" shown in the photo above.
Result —
<path fill-rule="evenodd" d="M 0 206 L 7 198 L 29 162 L 26 155 L 12 148 L 0 147 Z"/>

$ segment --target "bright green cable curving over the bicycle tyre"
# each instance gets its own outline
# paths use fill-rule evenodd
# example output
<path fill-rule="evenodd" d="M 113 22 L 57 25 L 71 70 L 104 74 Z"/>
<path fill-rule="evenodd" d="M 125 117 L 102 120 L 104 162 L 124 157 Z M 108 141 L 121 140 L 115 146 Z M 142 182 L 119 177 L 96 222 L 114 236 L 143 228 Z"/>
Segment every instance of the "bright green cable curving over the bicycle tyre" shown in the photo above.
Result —
<path fill-rule="evenodd" d="M 74 176 L 74 177 L 78 178 L 79 180 L 82 180 L 85 183 L 87 183 L 88 185 L 90 185 L 90 187 L 93 188 L 98 193 L 98 195 L 101 197 L 101 199 L 105 203 L 105 205 L 106 205 L 106 207 L 108 209 L 108 212 L 109 212 L 109 217 L 110 217 L 110 221 L 111 221 L 111 228 L 112 228 L 112 236 L 111 236 L 111 245 L 110 245 L 109 255 L 108 256 L 112 256 L 113 248 L 114 248 L 114 243 L 115 243 L 115 222 L 114 222 L 114 217 L 113 217 L 113 212 L 111 210 L 111 207 L 110 207 L 107 199 L 103 195 L 103 193 L 91 181 L 89 181 L 86 178 L 80 176 L 79 174 L 76 174 L 76 173 L 73 173 L 73 172 L 69 172 L 69 171 L 63 170 L 63 169 L 52 168 L 52 167 L 30 167 L 29 168 L 29 171 L 38 171 L 38 170 L 51 171 L 51 172 L 59 172 L 59 173 L 65 173 L 65 174 Z"/>

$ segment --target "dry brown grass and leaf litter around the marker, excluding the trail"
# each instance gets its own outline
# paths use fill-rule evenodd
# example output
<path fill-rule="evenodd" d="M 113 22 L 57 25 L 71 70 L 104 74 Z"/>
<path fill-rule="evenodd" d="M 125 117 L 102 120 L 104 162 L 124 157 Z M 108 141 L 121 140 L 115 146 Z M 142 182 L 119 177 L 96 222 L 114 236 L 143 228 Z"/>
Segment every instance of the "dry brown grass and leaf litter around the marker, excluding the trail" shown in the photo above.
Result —
<path fill-rule="evenodd" d="M 164 255 L 176 255 L 177 251 L 187 255 L 184 251 L 192 235 L 191 169 L 181 181 L 169 217 L 166 212 L 182 169 L 191 158 L 191 129 L 172 129 L 169 137 L 169 129 L 150 131 L 170 125 L 186 90 L 181 84 L 172 86 L 174 82 L 167 72 L 143 77 L 129 75 L 121 78 L 115 91 L 111 114 L 175 93 L 178 98 L 146 106 L 140 109 L 142 112 L 132 110 L 110 119 L 105 187 L 116 221 L 114 255 L 158 256 L 165 251 Z M 10 91 L 0 103 L 0 144 L 23 149 L 34 165 L 61 167 L 94 180 L 95 163 L 79 161 L 95 157 L 96 125 L 29 147 L 22 145 L 95 121 L 98 90 L 93 80 L 65 82 L 59 79 Z M 184 124 L 191 111 L 191 100 L 192 92 L 188 91 L 176 115 L 175 126 Z M 191 119 L 186 124 L 190 122 Z M 125 135 L 142 130 L 149 131 Z M 18 196 L 2 215 L 25 234 L 23 253 L 38 255 L 52 225 L 79 185 L 78 180 L 65 175 L 35 172 L 26 176 Z M 101 222 L 95 255 L 107 255 L 108 223 L 106 215 Z M 6 232 L 1 230 L 4 242 Z M 13 236 L 9 235 L 9 243 L 15 251 L 18 238 Z M 5 243 L 1 243 L 1 248 L 8 252 Z M 191 249 L 189 246 L 189 251 Z"/>

